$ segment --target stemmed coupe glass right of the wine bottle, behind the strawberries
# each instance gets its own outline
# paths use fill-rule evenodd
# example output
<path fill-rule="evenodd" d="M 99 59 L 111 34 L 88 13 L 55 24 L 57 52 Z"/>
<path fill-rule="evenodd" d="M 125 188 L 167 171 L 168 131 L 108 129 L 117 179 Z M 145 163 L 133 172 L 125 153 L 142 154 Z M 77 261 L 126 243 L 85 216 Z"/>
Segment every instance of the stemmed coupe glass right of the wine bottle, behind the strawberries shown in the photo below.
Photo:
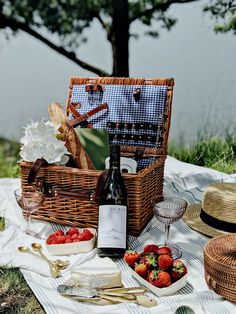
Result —
<path fill-rule="evenodd" d="M 182 253 L 175 247 L 168 244 L 170 225 L 180 218 L 187 208 L 187 202 L 179 197 L 156 196 L 152 199 L 154 216 L 165 225 L 164 246 L 171 248 L 174 258 L 181 257 Z"/>

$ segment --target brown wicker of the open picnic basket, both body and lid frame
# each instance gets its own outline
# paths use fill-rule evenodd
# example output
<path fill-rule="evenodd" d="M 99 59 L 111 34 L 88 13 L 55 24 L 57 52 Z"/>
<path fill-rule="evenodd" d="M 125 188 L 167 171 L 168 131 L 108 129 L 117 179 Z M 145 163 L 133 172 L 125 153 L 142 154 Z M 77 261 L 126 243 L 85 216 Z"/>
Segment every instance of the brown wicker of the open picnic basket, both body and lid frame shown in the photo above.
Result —
<path fill-rule="evenodd" d="M 128 86 L 128 88 L 130 86 L 132 88 L 140 87 L 141 89 L 143 88 L 144 91 L 147 87 L 146 93 L 150 87 L 165 88 L 164 105 L 161 109 L 162 114 L 160 115 L 163 119 L 159 125 L 155 126 L 155 128 L 158 128 L 158 136 L 155 137 L 154 145 L 153 143 L 149 145 L 150 143 L 148 143 L 148 141 L 147 145 L 143 145 L 146 143 L 147 137 L 143 137 L 142 145 L 134 145 L 132 141 L 125 140 L 119 142 L 121 146 L 121 156 L 137 157 L 138 160 L 146 162 L 146 166 L 140 168 L 137 173 L 122 174 L 129 198 L 129 232 L 131 235 L 137 236 L 153 217 L 150 199 L 155 195 L 163 193 L 164 163 L 167 155 L 174 80 L 73 77 L 70 80 L 69 86 L 67 103 L 68 114 L 70 105 L 73 104 L 74 101 L 74 89 L 81 86 L 84 89 L 88 84 L 102 84 L 103 88 L 108 86 L 108 89 L 110 87 L 117 88 L 117 86 L 119 88 L 121 85 L 123 87 Z M 157 92 L 159 93 L 159 91 Z M 148 106 L 148 98 L 145 101 L 146 106 Z M 120 121 L 120 128 L 124 127 L 123 122 L 125 121 Z M 128 126 L 129 125 L 128 123 Z M 138 126 L 140 125 L 142 127 L 142 124 L 139 123 Z M 119 129 L 119 132 L 120 131 Z M 114 140 L 114 134 L 112 135 L 111 142 L 112 140 Z M 27 183 L 27 178 L 31 167 L 32 163 L 25 161 L 20 162 L 23 190 L 30 188 Z M 79 192 L 82 191 L 82 193 L 78 198 L 55 195 L 46 196 L 42 207 L 34 212 L 32 217 L 71 226 L 96 227 L 98 220 L 98 203 L 94 199 L 93 193 L 96 189 L 100 174 L 100 170 L 84 170 L 56 165 L 42 166 L 37 176 L 43 177 L 48 186 L 55 185 L 69 193 L 77 191 L 78 195 Z"/>

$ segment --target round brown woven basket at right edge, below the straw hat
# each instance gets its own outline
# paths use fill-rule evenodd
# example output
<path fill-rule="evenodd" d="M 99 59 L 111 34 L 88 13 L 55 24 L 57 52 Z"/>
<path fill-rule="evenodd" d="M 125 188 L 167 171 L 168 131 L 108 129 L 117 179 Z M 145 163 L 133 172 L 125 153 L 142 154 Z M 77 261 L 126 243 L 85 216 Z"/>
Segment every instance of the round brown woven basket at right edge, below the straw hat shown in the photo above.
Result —
<path fill-rule="evenodd" d="M 210 289 L 236 302 L 236 235 L 217 236 L 204 247 L 205 279 Z"/>

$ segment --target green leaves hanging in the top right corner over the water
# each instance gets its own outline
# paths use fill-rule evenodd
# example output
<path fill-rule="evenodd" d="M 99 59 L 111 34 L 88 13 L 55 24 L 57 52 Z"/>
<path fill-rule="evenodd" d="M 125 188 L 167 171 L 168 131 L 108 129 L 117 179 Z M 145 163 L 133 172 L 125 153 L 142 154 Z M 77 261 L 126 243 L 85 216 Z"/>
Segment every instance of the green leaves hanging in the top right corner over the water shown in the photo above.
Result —
<path fill-rule="evenodd" d="M 236 35 L 236 0 L 214 0 L 204 8 L 216 19 L 216 32 L 232 31 Z"/>

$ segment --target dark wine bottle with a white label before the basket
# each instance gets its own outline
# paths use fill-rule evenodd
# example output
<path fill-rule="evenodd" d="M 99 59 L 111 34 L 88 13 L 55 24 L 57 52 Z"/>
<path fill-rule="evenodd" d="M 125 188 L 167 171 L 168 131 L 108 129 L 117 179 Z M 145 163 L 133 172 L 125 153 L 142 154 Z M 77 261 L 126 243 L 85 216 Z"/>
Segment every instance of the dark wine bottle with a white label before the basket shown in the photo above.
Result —
<path fill-rule="evenodd" d="M 120 173 L 120 147 L 110 147 L 110 168 L 100 194 L 98 255 L 121 258 L 127 250 L 128 197 Z"/>

